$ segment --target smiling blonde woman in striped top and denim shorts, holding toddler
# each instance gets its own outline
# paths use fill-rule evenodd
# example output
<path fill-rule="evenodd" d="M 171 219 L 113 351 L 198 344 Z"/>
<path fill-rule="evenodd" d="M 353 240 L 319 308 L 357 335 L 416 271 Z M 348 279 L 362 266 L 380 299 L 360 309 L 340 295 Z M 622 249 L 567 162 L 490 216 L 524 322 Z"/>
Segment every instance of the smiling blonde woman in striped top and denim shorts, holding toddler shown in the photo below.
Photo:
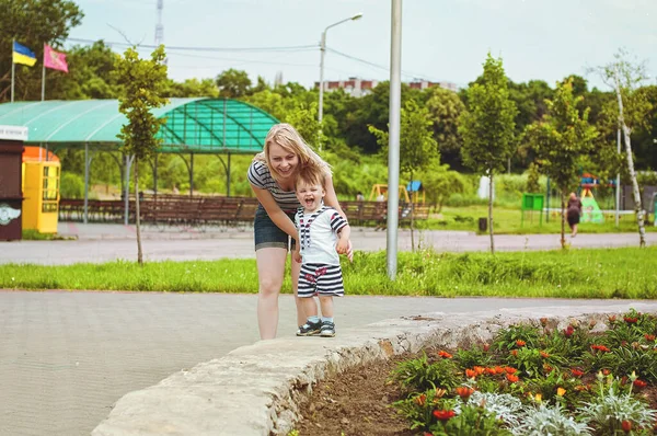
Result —
<path fill-rule="evenodd" d="M 331 167 L 312 151 L 289 124 L 277 124 L 269 129 L 263 152 L 256 154 L 249 167 L 249 182 L 260 202 L 253 228 L 260 282 L 257 323 L 263 340 L 276 337 L 278 295 L 285 276 L 287 253 L 299 238 L 293 221 L 300 206 L 295 193 L 295 177 L 304 165 L 316 165 L 326 172 L 324 203 L 337 209 L 346 219 L 335 195 Z M 349 243 L 349 259 L 351 254 Z M 302 325 L 308 317 L 318 314 L 318 308 L 315 303 L 313 313 L 303 311 L 297 297 L 301 264 L 291 262 L 291 265 L 297 322 Z"/>

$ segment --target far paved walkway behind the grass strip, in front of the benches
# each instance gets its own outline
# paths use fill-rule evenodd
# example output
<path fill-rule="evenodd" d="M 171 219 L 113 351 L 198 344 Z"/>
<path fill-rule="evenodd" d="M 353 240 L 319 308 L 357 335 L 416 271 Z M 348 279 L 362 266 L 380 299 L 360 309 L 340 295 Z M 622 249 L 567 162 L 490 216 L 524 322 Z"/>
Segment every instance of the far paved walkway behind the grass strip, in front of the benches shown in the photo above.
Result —
<path fill-rule="evenodd" d="M 4 242 L 0 250 L 2 263 L 72 264 L 108 262 L 116 259 L 137 260 L 135 227 L 122 225 L 81 225 L 61 222 L 59 234 L 77 237 L 70 241 Z M 192 261 L 220 257 L 255 257 L 253 232 L 249 228 L 181 228 L 146 227 L 142 231 L 143 256 L 147 261 Z M 411 232 L 401 230 L 400 251 L 411 250 Z M 649 245 L 657 244 L 657 233 L 646 234 Z M 385 250 L 385 231 L 356 228 L 351 232 L 356 250 Z M 636 233 L 578 234 L 568 238 L 573 248 L 638 246 Z M 465 231 L 416 231 L 415 244 L 435 250 L 464 252 L 489 250 L 489 237 Z M 498 251 L 557 250 L 558 234 L 500 234 L 495 237 Z M 7 250 L 4 250 L 7 248 Z"/>

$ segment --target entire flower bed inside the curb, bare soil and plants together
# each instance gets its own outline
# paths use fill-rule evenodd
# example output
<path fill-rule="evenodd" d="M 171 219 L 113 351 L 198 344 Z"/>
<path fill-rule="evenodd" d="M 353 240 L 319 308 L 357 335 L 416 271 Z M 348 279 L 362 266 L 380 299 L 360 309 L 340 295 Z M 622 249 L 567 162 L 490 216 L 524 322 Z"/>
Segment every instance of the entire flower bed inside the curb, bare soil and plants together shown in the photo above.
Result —
<path fill-rule="evenodd" d="M 634 310 L 426 349 L 322 381 L 291 434 L 653 435 L 657 317 Z"/>

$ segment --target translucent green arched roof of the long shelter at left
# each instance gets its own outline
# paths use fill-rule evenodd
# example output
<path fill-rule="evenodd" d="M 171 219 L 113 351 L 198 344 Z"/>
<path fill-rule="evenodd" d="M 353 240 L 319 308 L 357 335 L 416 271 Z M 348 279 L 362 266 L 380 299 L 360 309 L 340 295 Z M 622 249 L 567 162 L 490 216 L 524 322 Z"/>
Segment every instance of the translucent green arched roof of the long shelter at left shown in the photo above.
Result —
<path fill-rule="evenodd" d="M 166 118 L 158 136 L 161 152 L 254 153 L 278 121 L 268 113 L 230 99 L 170 99 L 153 110 Z M 0 125 L 26 126 L 25 144 L 51 148 L 117 149 L 116 135 L 127 118 L 118 100 L 14 102 L 0 104 Z"/>

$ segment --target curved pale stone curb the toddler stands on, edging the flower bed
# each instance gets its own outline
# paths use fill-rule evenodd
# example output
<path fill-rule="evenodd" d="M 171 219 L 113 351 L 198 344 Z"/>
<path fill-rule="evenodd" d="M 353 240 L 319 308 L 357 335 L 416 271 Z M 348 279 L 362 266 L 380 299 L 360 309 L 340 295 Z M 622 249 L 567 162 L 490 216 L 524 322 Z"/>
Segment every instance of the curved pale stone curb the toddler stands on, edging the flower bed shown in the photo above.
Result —
<path fill-rule="evenodd" d="M 514 323 L 548 318 L 563 329 L 574 319 L 603 321 L 631 307 L 657 312 L 657 302 L 647 302 L 431 313 L 345 329 L 335 339 L 261 341 L 126 394 L 92 435 L 286 435 L 298 421 L 299 401 L 319 380 L 348 367 L 425 346 L 488 342 Z"/>

